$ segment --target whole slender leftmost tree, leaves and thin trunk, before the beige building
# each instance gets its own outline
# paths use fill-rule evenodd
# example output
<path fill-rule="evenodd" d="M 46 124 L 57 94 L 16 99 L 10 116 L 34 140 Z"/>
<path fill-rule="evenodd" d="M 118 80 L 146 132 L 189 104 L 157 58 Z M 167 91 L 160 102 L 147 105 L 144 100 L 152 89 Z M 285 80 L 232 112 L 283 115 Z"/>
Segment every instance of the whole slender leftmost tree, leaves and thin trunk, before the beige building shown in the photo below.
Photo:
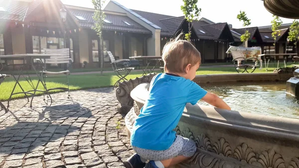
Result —
<path fill-rule="evenodd" d="M 105 0 L 92 0 L 92 3 L 95 7 L 95 12 L 92 18 L 95 20 L 92 29 L 94 29 L 100 37 L 100 53 L 99 53 L 99 63 L 101 67 L 101 75 L 103 75 L 103 66 L 104 66 L 104 46 L 103 46 L 103 36 L 102 36 L 102 27 L 104 19 L 106 17 L 105 13 L 102 10 L 102 7 L 105 3 Z"/>

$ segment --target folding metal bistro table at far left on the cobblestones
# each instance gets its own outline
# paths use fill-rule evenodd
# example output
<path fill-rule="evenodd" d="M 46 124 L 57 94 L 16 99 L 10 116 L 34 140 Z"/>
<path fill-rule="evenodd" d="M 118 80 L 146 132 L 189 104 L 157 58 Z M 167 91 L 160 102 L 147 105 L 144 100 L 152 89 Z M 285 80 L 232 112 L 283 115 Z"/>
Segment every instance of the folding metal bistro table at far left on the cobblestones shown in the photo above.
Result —
<path fill-rule="evenodd" d="M 45 90 L 47 90 L 46 89 L 46 85 L 44 84 L 43 80 L 41 79 L 41 76 L 39 75 L 38 71 L 36 70 L 36 68 L 34 66 L 34 61 L 33 61 L 33 59 L 42 59 L 42 60 L 44 60 L 43 63 L 44 63 L 44 66 L 45 66 L 46 59 L 51 58 L 51 56 L 61 56 L 61 55 L 60 54 L 14 54 L 14 55 L 0 55 L 0 59 L 23 60 L 23 65 L 19 69 L 17 77 L 15 77 L 15 75 L 12 74 L 12 76 L 13 76 L 13 78 L 15 80 L 15 84 L 14 84 L 14 87 L 13 87 L 13 89 L 11 91 L 11 94 L 10 94 L 8 102 L 7 102 L 7 109 L 9 107 L 9 101 L 10 101 L 12 95 L 16 95 L 16 94 L 24 94 L 25 97 L 27 98 L 28 102 L 29 102 L 29 98 L 28 98 L 27 94 L 32 95 L 31 102 L 30 102 L 30 107 L 32 107 L 32 101 L 33 101 L 33 98 L 34 98 L 36 92 L 46 93 L 50 97 L 50 99 L 52 101 L 52 98 L 51 98 L 50 94 L 45 91 Z M 36 86 L 34 86 L 34 84 L 33 84 L 32 80 L 31 80 L 29 74 L 26 74 L 28 76 L 29 80 L 23 74 L 23 68 L 24 68 L 24 65 L 25 65 L 25 60 L 28 60 L 28 59 L 30 59 L 31 67 L 33 68 L 33 70 L 35 71 L 36 76 L 38 77 L 38 82 L 37 82 Z M 29 63 L 26 62 L 26 64 L 29 64 Z M 23 87 L 19 83 L 20 76 L 23 76 L 26 79 L 26 81 L 28 82 L 28 84 L 32 87 L 32 90 L 24 91 Z M 39 82 L 42 84 L 44 90 L 37 90 Z M 20 89 L 22 90 L 22 92 L 14 93 L 16 85 L 18 85 L 20 87 Z"/>

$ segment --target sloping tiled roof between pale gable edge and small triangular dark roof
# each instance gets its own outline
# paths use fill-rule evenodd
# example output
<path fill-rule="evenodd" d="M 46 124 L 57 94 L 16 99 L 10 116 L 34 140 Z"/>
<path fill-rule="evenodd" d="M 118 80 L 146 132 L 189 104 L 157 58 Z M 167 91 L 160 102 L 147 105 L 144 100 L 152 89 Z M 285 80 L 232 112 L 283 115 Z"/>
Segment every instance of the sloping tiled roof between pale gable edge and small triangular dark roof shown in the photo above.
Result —
<path fill-rule="evenodd" d="M 140 11 L 140 10 L 133 10 L 133 11 L 136 12 L 137 14 L 143 16 L 144 18 L 146 18 L 150 22 L 154 23 L 155 25 L 161 27 L 161 35 L 173 35 L 172 33 L 169 32 L 167 27 L 160 20 L 166 19 L 166 18 L 172 18 L 174 16 L 151 13 L 151 12 Z"/>

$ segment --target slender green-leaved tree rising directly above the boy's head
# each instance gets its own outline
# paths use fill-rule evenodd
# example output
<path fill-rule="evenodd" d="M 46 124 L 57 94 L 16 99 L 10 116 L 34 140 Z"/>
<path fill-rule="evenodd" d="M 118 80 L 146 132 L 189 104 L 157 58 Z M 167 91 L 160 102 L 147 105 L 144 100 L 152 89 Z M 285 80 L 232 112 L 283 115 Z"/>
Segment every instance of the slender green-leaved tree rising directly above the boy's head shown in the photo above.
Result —
<path fill-rule="evenodd" d="M 198 20 L 201 8 L 197 7 L 198 0 L 183 0 L 184 5 L 181 5 L 181 10 L 185 15 L 186 20 L 188 21 L 188 33 L 185 34 L 186 40 L 190 41 L 191 38 L 191 28 L 193 26 L 193 21 Z M 192 23 L 192 25 L 190 25 Z"/>

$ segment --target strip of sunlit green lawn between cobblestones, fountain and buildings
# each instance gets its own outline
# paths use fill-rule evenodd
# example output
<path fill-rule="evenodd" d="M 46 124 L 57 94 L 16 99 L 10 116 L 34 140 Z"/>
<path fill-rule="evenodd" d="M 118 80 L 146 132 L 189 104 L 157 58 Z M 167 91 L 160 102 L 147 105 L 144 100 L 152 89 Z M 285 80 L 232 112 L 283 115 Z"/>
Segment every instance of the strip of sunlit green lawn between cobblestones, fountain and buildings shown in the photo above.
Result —
<path fill-rule="evenodd" d="M 273 72 L 275 68 L 270 67 L 268 68 L 268 72 Z M 157 73 L 161 71 L 156 70 Z M 263 68 L 262 70 L 256 69 L 255 73 L 262 73 L 266 72 L 266 69 Z M 234 67 L 200 67 L 197 71 L 197 75 L 205 75 L 205 74 L 224 74 L 224 73 L 237 73 Z M 128 78 L 136 78 L 140 77 L 142 72 L 132 72 Z M 34 75 L 31 75 L 34 76 Z M 31 77 L 33 79 L 33 83 L 36 85 L 37 77 Z M 104 73 L 103 76 L 100 74 L 86 74 L 86 75 L 70 75 L 69 82 L 70 82 L 70 89 L 71 90 L 79 90 L 79 89 L 88 89 L 88 88 L 99 88 L 99 87 L 109 87 L 113 86 L 114 83 L 118 80 L 118 77 L 115 76 L 114 73 Z M 12 91 L 15 81 L 13 77 L 5 78 L 5 81 L 0 85 L 0 100 L 8 100 L 9 95 Z M 21 79 L 20 84 L 24 88 L 24 90 L 32 90 L 31 86 L 27 83 L 25 79 Z M 47 78 L 47 88 L 53 87 L 66 87 L 66 78 L 65 77 L 51 77 Z M 42 89 L 40 85 L 39 89 Z M 17 86 L 15 92 L 21 91 L 20 88 Z M 38 93 L 41 94 L 41 93 Z M 73 95 L 74 96 L 74 95 Z M 24 97 L 23 95 L 14 95 L 12 98 L 21 98 Z"/>

